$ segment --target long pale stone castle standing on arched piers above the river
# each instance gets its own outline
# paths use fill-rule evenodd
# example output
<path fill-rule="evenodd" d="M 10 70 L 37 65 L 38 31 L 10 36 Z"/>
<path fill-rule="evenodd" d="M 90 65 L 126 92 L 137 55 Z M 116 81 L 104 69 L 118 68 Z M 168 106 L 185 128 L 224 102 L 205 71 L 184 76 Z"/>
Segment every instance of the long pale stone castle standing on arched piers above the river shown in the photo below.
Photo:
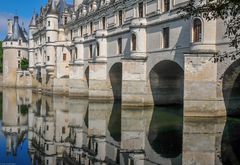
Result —
<path fill-rule="evenodd" d="M 224 22 L 183 19 L 177 12 L 187 2 L 49 0 L 33 14 L 28 45 L 23 38 L 32 86 L 90 100 L 121 99 L 125 108 L 184 103 L 185 116 L 234 113 L 229 98 L 238 89 L 239 61 L 212 60 L 231 51 Z M 6 49 L 9 42 L 5 55 L 19 47 Z"/>

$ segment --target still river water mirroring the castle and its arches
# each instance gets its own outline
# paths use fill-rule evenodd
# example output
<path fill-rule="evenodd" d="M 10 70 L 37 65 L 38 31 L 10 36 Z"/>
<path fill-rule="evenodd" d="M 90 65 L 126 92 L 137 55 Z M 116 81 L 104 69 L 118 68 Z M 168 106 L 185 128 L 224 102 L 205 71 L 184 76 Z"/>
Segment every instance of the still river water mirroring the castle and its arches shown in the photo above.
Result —
<path fill-rule="evenodd" d="M 185 118 L 182 106 L 0 95 L 0 164 L 238 165 L 238 118 Z"/>

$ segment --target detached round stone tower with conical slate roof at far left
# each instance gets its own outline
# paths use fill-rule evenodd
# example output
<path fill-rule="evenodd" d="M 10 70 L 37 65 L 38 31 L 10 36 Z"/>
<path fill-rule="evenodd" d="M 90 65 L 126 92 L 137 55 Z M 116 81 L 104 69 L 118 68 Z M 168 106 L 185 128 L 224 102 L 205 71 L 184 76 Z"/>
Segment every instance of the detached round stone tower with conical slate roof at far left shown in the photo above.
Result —
<path fill-rule="evenodd" d="M 15 87 L 21 59 L 28 59 L 26 32 L 19 25 L 18 16 L 8 20 L 8 34 L 3 41 L 3 85 Z"/>

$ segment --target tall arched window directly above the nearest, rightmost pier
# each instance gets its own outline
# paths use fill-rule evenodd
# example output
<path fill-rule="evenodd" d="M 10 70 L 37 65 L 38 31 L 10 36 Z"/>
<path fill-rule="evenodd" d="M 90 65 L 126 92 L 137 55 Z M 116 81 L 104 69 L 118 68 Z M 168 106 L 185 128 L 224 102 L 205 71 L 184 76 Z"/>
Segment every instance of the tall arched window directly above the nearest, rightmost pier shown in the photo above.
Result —
<path fill-rule="evenodd" d="M 199 18 L 193 20 L 193 42 L 202 41 L 202 22 Z"/>

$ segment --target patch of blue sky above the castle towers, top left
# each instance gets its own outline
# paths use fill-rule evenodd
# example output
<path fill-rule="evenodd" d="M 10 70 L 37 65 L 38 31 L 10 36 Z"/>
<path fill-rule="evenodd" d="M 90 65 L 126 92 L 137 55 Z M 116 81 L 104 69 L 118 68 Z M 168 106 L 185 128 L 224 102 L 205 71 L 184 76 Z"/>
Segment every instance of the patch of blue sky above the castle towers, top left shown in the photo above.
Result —
<path fill-rule="evenodd" d="M 7 33 L 7 19 L 18 15 L 21 22 L 27 28 L 34 9 L 39 12 L 41 5 L 47 0 L 1 0 L 0 4 L 0 40 L 3 40 Z M 71 3 L 72 0 L 67 0 Z"/>

